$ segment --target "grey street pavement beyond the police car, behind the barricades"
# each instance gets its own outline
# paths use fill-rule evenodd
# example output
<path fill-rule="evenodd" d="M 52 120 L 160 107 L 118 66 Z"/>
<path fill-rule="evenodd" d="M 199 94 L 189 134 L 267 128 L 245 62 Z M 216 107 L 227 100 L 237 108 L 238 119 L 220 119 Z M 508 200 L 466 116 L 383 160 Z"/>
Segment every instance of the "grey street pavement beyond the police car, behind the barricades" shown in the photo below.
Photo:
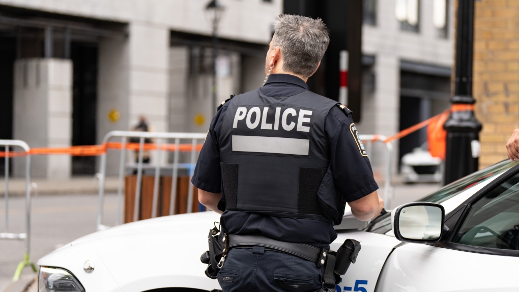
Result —
<path fill-rule="evenodd" d="M 383 186 L 383 184 L 379 184 Z M 440 188 L 438 184 L 415 184 L 394 186 L 394 198 L 390 208 L 402 203 L 416 201 Z M 379 193 L 383 193 L 383 189 Z M 36 261 L 54 249 L 83 235 L 95 231 L 98 197 L 93 194 L 39 195 L 32 200 L 31 260 Z M 104 224 L 113 226 L 116 217 L 117 198 L 115 194 L 105 196 Z M 0 199 L 0 232 L 4 231 L 5 209 Z M 10 232 L 24 230 L 24 198 L 13 197 L 9 202 Z M 18 263 L 23 259 L 24 242 L 0 240 L 0 291 L 22 292 L 11 285 L 11 278 Z M 30 268 L 22 273 L 24 280 L 36 274 Z M 8 286 L 11 287 L 7 289 Z M 7 290 L 5 290 L 7 289 Z M 28 291 L 36 291 L 32 285 Z"/>

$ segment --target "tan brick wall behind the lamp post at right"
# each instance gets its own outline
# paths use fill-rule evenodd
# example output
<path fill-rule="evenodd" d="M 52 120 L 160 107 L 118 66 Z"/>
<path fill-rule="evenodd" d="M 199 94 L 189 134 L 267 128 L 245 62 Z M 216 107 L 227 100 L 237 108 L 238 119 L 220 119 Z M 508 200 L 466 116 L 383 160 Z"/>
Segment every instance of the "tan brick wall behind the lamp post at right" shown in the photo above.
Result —
<path fill-rule="evenodd" d="M 507 158 L 519 128 L 519 0 L 475 2 L 473 95 L 484 168 Z"/>

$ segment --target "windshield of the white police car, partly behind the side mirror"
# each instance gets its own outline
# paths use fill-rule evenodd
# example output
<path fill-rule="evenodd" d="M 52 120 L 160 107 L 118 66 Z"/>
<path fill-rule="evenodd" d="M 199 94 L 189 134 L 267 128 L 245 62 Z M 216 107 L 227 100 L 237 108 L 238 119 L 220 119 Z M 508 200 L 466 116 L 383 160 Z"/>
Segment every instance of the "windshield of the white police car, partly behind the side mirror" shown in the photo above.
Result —
<path fill-rule="evenodd" d="M 490 178 L 494 178 L 503 172 L 511 169 L 514 165 L 519 164 L 518 161 L 510 162 L 509 160 L 504 160 L 494 165 L 491 165 L 485 169 L 480 171 L 476 171 L 472 174 L 469 174 L 466 177 L 460 178 L 453 183 L 446 185 L 445 187 L 439 189 L 438 191 L 429 194 L 428 196 L 417 200 L 417 202 L 431 202 L 441 204 L 461 192 L 465 192 L 475 186 L 478 186 L 477 189 L 481 189 L 479 186 L 483 182 L 486 182 Z M 465 201 L 465 199 L 463 200 Z M 386 234 L 391 230 L 391 213 L 388 212 L 386 214 L 380 215 L 377 218 L 373 219 L 373 221 L 364 229 L 364 231 Z"/>

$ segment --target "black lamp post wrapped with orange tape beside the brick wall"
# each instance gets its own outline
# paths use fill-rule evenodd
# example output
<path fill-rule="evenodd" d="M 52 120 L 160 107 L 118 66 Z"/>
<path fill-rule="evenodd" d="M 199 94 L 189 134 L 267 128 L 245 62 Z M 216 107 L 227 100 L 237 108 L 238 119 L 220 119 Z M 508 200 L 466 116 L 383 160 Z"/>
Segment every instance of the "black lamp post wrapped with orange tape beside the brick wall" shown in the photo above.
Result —
<path fill-rule="evenodd" d="M 458 0 L 456 31 L 456 79 L 451 110 L 443 128 L 447 131 L 444 184 L 477 170 L 481 123 L 474 116 L 472 62 L 474 1 Z"/>

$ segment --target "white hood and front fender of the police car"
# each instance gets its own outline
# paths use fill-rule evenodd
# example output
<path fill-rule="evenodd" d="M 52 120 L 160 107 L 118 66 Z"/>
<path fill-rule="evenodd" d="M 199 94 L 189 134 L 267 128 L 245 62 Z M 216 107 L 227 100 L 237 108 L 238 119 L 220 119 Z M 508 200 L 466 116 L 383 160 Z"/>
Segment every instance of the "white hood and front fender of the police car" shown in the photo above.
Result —
<path fill-rule="evenodd" d="M 124 224 L 79 238 L 39 259 L 38 265 L 69 270 L 91 291 L 211 290 L 218 283 L 204 275 L 206 265 L 200 255 L 208 249 L 209 229 L 218 220 L 218 214 L 202 212 Z M 346 238 L 359 240 L 362 251 L 355 269 L 350 269 L 354 271 L 343 277 L 344 285 L 357 280 L 368 280 L 366 288 L 374 285 L 385 259 L 400 242 L 381 234 L 339 230 L 332 249 L 337 250 Z M 83 271 L 87 260 L 95 264 L 92 273 Z M 107 283 L 113 283 L 111 289 Z"/>

